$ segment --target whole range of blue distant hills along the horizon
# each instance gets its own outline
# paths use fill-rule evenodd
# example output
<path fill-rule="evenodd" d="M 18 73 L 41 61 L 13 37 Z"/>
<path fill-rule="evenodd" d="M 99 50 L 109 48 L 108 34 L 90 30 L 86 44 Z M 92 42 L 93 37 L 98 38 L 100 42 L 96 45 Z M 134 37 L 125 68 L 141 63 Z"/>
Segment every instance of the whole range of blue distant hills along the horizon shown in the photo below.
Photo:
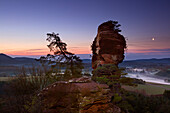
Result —
<path fill-rule="evenodd" d="M 33 58 L 28 57 L 15 57 L 12 58 L 5 54 L 0 54 L 0 65 L 32 65 L 37 64 L 38 62 Z M 91 59 L 83 59 L 83 63 L 88 64 L 91 67 Z M 126 67 L 126 66 L 135 66 L 135 67 L 147 67 L 147 66 L 170 66 L 170 58 L 162 58 L 162 59 L 138 59 L 138 60 L 128 60 L 123 61 L 119 66 Z"/>

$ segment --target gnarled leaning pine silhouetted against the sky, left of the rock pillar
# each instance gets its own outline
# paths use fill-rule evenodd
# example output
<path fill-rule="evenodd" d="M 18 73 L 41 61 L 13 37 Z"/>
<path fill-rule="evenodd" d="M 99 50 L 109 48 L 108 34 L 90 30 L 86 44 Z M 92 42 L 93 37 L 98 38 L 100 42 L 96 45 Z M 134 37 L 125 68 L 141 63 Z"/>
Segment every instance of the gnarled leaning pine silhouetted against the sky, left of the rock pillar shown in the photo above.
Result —
<path fill-rule="evenodd" d="M 48 54 L 46 57 L 41 57 L 41 62 L 47 62 L 50 64 L 52 69 L 56 69 L 57 66 L 65 68 L 65 74 L 70 73 L 71 77 L 81 76 L 83 69 L 82 60 L 74 53 L 67 51 L 67 44 L 62 42 L 59 34 L 47 33 L 47 39 L 49 43 L 48 48 L 54 53 L 54 55 Z"/>

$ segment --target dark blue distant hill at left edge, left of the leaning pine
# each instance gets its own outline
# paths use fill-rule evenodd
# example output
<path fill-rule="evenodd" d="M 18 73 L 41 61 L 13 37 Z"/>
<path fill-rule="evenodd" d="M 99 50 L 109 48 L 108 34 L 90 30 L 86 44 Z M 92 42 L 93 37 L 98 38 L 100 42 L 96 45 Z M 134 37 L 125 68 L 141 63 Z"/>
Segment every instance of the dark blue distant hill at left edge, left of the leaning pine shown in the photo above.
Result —
<path fill-rule="evenodd" d="M 37 64 L 37 61 L 33 58 L 27 58 L 27 57 L 16 57 L 12 58 L 6 54 L 1 53 L 0 54 L 0 65 L 1 66 L 7 66 L 7 65 L 32 65 Z"/>

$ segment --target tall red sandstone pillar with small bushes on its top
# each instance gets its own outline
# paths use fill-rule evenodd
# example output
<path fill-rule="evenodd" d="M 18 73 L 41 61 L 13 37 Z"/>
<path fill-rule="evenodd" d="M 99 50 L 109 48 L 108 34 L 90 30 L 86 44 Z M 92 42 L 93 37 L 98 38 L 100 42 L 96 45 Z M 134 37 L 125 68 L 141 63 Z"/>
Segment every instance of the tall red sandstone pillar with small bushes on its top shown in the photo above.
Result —
<path fill-rule="evenodd" d="M 121 63 L 124 59 L 126 40 L 119 34 L 120 25 L 115 21 L 108 21 L 98 27 L 98 33 L 92 44 L 92 68 L 102 64 Z"/>

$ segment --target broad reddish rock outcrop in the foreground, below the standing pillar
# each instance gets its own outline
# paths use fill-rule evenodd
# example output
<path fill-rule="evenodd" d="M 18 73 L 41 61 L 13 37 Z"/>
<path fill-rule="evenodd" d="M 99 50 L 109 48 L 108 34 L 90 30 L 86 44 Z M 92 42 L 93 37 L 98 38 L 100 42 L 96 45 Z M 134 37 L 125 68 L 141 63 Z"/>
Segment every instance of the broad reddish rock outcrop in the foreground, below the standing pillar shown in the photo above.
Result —
<path fill-rule="evenodd" d="M 105 84 L 81 77 L 49 85 L 39 93 L 44 113 L 120 113 Z"/>

